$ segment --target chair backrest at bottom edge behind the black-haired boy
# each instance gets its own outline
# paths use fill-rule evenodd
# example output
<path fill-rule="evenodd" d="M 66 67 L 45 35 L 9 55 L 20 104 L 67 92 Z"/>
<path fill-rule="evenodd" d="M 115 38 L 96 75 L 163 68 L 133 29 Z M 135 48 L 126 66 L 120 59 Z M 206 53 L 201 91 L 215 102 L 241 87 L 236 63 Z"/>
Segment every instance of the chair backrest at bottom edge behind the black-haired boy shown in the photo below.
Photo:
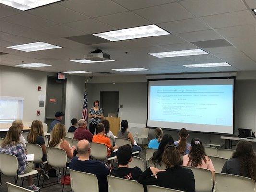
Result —
<path fill-rule="evenodd" d="M 135 180 L 107 176 L 109 192 L 144 192 L 143 185 Z"/>

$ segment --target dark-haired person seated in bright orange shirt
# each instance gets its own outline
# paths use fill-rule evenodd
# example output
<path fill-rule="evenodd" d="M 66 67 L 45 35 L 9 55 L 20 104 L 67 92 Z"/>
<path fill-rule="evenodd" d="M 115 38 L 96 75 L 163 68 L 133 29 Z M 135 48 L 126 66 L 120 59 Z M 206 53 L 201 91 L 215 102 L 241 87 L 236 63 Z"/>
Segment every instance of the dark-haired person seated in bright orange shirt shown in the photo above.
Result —
<path fill-rule="evenodd" d="M 110 143 L 110 139 L 104 136 L 105 135 L 104 125 L 102 123 L 98 123 L 98 125 L 96 126 L 96 130 L 98 134 L 93 136 L 92 141 L 96 143 L 105 144 L 107 146 L 108 158 L 116 156 L 116 152 L 114 152 L 114 150 L 117 149 L 118 146 L 113 147 L 112 144 Z"/>

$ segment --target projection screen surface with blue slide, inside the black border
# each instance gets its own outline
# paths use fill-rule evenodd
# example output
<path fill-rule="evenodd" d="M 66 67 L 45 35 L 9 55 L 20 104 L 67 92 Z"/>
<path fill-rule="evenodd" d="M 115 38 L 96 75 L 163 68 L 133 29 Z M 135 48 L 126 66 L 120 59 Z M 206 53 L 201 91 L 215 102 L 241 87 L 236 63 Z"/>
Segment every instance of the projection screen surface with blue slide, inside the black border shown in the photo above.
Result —
<path fill-rule="evenodd" d="M 148 126 L 233 133 L 233 80 L 149 82 Z"/>

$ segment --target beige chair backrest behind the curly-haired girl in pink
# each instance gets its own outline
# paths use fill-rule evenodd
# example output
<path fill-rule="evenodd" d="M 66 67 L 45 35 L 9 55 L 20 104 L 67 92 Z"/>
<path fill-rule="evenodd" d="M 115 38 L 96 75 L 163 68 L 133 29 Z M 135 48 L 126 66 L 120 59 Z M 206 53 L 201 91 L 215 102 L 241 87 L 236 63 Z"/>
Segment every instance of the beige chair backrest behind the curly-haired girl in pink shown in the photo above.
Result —
<path fill-rule="evenodd" d="M 196 192 L 211 192 L 213 186 L 212 173 L 205 168 L 186 167 L 192 170 L 195 178 L 195 191 Z"/>

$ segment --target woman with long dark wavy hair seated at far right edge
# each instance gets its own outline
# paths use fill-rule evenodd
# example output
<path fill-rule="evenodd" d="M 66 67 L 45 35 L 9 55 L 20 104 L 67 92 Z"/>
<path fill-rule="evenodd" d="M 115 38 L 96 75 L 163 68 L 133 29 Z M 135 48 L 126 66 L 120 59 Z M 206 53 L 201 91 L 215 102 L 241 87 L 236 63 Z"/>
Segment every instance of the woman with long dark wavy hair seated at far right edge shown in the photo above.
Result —
<path fill-rule="evenodd" d="M 256 181 L 256 155 L 248 141 L 239 141 L 231 159 L 227 160 L 222 173 L 241 175 Z"/>

